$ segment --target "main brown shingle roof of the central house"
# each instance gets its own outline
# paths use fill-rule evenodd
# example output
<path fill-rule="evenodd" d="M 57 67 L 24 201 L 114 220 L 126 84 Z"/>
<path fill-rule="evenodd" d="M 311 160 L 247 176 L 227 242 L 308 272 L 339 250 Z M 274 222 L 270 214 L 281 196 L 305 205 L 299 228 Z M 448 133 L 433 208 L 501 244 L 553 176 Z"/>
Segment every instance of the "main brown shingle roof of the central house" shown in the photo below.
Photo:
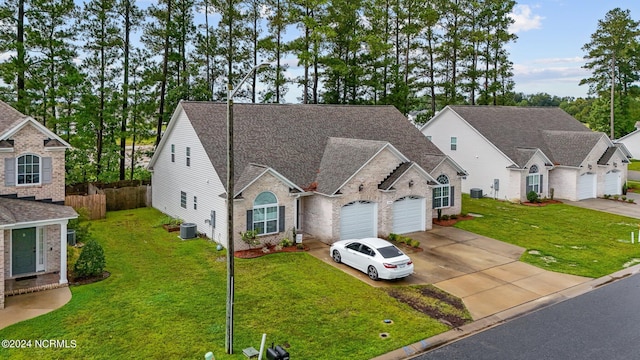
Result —
<path fill-rule="evenodd" d="M 225 183 L 226 104 L 190 101 L 181 104 Z M 234 134 L 236 183 L 239 174 L 253 163 L 273 168 L 300 188 L 309 188 L 322 173 L 320 179 L 326 184 L 318 181 L 317 185 L 331 189 L 335 182 L 325 176 L 329 173 L 323 170 L 328 169 L 322 166 L 325 150 L 333 152 L 326 159 L 327 164 L 361 160 L 355 148 L 353 152 L 335 151 L 340 141 L 328 146 L 330 138 L 389 142 L 427 172 L 445 157 L 392 106 L 235 104 Z M 347 170 L 331 171 L 342 176 Z"/>

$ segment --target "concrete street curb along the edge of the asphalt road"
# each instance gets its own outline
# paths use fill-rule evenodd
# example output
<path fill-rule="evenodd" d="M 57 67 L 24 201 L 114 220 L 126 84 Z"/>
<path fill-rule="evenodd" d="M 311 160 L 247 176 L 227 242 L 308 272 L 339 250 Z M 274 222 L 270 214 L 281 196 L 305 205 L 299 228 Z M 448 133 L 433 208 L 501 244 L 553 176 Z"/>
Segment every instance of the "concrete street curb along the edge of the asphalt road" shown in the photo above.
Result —
<path fill-rule="evenodd" d="M 394 351 L 382 354 L 371 360 L 404 360 L 412 359 L 426 351 L 433 350 L 448 343 L 460 340 L 464 337 L 476 334 L 478 332 L 490 329 L 494 326 L 505 323 L 509 320 L 533 313 L 550 305 L 561 303 L 565 300 L 586 294 L 601 286 L 618 281 L 625 277 L 640 272 L 640 265 L 635 265 L 624 270 L 617 271 L 613 274 L 606 275 L 597 279 L 560 290 L 550 295 L 529 301 L 527 303 L 512 307 L 499 313 L 486 316 L 472 323 L 451 329 L 447 332 L 432 336 L 430 338 L 420 340 L 416 343 L 396 349 Z"/>

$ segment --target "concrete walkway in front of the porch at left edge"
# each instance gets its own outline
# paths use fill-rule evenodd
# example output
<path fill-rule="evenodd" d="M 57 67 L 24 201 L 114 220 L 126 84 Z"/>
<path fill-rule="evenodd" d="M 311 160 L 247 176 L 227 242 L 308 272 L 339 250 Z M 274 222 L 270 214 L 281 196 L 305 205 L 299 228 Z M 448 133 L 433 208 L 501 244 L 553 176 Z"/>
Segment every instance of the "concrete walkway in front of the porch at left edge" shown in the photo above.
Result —
<path fill-rule="evenodd" d="M 69 300 L 71 290 L 68 287 L 9 296 L 5 298 L 4 309 L 0 310 L 0 329 L 51 312 Z"/>

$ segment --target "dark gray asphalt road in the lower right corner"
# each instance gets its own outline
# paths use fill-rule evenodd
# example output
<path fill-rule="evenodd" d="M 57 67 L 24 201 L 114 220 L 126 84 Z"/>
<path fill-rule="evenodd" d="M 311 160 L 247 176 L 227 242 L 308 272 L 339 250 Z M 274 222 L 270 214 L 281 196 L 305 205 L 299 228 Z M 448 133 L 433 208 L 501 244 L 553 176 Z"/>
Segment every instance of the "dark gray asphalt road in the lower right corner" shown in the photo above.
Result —
<path fill-rule="evenodd" d="M 414 359 L 617 360 L 639 357 L 640 274 Z"/>

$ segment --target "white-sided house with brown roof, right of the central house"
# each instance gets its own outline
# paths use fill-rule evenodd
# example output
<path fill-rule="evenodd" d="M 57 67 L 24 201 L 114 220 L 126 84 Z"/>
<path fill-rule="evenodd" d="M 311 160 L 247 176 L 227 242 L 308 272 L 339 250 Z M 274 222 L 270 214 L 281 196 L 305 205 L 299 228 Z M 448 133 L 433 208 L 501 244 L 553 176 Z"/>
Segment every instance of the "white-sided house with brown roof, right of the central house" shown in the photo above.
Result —
<path fill-rule="evenodd" d="M 624 149 L 560 108 L 447 106 L 421 131 L 469 172 L 472 196 L 575 201 L 620 194 L 627 180 Z"/>

